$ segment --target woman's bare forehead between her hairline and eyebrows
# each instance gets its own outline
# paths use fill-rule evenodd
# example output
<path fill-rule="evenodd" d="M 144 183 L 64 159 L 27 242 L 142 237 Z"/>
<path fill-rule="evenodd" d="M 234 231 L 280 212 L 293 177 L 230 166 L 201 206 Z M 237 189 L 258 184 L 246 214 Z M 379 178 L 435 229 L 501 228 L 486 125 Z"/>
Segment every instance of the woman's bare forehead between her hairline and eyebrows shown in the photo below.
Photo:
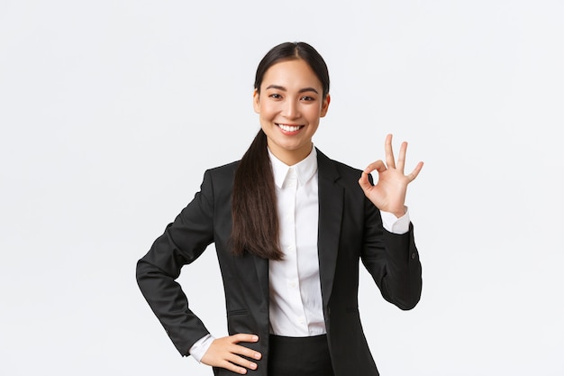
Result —
<path fill-rule="evenodd" d="M 291 88 L 303 87 L 322 87 L 322 83 L 317 78 L 314 70 L 305 60 L 284 60 L 277 62 L 267 69 L 262 79 L 261 87 L 277 85 Z"/>

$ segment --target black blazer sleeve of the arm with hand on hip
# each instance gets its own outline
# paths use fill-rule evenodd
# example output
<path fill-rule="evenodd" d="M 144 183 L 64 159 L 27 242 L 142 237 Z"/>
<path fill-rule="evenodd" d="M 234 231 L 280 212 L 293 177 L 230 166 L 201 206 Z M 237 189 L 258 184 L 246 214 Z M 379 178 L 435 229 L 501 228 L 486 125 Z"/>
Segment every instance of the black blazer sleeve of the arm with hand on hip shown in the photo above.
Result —
<path fill-rule="evenodd" d="M 214 241 L 214 185 L 205 172 L 200 191 L 137 262 L 137 283 L 160 324 L 185 356 L 209 332 L 177 283 L 181 268 Z"/>

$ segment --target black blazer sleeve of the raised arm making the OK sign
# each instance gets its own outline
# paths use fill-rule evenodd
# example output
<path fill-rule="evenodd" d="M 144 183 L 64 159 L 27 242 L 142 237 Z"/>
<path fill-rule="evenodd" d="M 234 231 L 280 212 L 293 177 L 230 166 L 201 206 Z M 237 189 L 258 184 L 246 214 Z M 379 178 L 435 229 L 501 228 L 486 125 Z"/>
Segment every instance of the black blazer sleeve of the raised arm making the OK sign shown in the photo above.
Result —
<path fill-rule="evenodd" d="M 406 234 L 388 232 L 378 208 L 366 199 L 364 234 L 361 259 L 382 297 L 400 309 L 415 307 L 421 298 L 422 269 L 413 224 Z"/>

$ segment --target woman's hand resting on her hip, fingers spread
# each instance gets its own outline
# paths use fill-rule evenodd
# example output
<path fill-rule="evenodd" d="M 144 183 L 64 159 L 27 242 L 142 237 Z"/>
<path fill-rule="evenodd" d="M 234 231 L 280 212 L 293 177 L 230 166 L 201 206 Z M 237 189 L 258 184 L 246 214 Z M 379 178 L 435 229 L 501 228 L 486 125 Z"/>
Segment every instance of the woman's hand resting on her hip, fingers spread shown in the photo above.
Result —
<path fill-rule="evenodd" d="M 259 342 L 258 335 L 229 335 L 216 338 L 202 357 L 202 362 L 213 367 L 225 368 L 229 371 L 245 374 L 247 369 L 256 370 L 257 363 L 241 357 L 259 360 L 262 354 L 248 347 L 241 346 L 241 342 Z"/>

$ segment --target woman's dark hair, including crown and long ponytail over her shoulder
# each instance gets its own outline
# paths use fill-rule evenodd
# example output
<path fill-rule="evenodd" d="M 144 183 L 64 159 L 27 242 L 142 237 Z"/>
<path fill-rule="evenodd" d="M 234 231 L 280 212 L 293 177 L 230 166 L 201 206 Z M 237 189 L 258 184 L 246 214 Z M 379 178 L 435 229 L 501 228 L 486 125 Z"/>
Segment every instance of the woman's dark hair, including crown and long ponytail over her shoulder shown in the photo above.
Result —
<path fill-rule="evenodd" d="M 255 89 L 267 70 L 287 60 L 305 60 L 323 86 L 323 97 L 329 94 L 329 71 L 322 56 L 303 42 L 278 44 L 260 60 L 255 77 Z M 276 187 L 268 158 L 267 135 L 259 130 L 243 155 L 233 181 L 232 252 L 255 254 L 268 260 L 282 260 L 278 239 Z"/>

